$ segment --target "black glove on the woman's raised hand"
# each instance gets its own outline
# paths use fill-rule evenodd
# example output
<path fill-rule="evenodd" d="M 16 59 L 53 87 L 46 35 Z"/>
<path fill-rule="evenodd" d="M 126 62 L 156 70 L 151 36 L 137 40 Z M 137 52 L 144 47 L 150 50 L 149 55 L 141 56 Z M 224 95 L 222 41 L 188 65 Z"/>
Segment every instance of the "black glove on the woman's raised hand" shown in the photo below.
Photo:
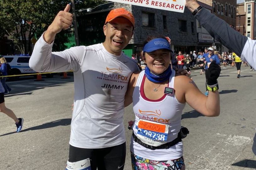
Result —
<path fill-rule="evenodd" d="M 206 72 L 207 85 L 212 86 L 217 83 L 217 78 L 220 76 L 220 70 L 220 66 L 216 64 L 216 61 L 212 61 Z"/>

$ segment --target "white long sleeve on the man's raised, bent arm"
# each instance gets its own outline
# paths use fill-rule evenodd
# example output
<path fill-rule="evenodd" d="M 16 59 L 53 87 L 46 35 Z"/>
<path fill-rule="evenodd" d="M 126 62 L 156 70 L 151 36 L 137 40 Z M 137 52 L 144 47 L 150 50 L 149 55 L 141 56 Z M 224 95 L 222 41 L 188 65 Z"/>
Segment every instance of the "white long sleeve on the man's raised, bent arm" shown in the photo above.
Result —
<path fill-rule="evenodd" d="M 84 46 L 72 47 L 61 52 L 52 52 L 52 44 L 47 44 L 43 37 L 36 42 L 29 60 L 29 66 L 36 72 L 65 72 L 78 70 L 83 59 Z"/>

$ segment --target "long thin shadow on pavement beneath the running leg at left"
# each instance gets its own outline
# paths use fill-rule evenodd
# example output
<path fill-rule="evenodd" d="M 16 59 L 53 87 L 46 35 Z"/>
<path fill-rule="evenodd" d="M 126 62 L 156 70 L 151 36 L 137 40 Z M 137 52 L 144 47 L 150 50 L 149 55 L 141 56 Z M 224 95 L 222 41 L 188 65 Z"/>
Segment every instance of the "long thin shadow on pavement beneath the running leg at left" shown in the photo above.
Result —
<path fill-rule="evenodd" d="M 60 120 L 55 120 L 52 122 L 48 122 L 48 123 L 44 123 L 42 125 L 38 125 L 38 126 L 34 126 L 25 130 L 22 130 L 19 133 L 25 132 L 25 131 L 29 131 L 29 130 L 40 130 L 40 129 L 47 129 L 47 128 L 52 128 L 52 127 L 56 127 L 56 126 L 67 126 L 71 124 L 71 119 L 60 119 Z M 0 135 L 1 136 L 5 136 L 5 135 L 11 135 L 13 133 L 17 133 L 17 132 L 10 132 L 7 134 L 3 134 Z"/>

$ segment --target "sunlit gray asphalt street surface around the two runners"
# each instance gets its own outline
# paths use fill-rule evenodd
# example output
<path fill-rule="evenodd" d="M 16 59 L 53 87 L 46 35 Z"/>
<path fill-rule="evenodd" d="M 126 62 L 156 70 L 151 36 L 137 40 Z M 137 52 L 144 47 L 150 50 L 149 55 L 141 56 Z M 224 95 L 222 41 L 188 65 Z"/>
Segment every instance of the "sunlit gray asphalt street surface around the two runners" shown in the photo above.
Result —
<path fill-rule="evenodd" d="M 256 132 L 256 72 L 242 65 L 241 78 L 237 78 L 236 68 L 227 68 L 218 79 L 220 116 L 205 117 L 188 104 L 183 110 L 181 124 L 190 131 L 183 139 L 187 170 L 256 169 L 256 156 L 252 152 Z M 192 70 L 191 78 L 204 93 L 205 75 L 199 72 Z M 24 118 L 24 129 L 16 133 L 13 120 L 0 114 L 0 170 L 65 169 L 74 97 L 74 79 L 72 75 L 69 77 L 43 77 L 45 81 L 40 82 L 27 77 L 7 82 L 13 91 L 5 96 L 6 106 Z M 125 128 L 129 120 L 134 120 L 132 105 L 125 108 Z M 132 131 L 126 128 L 125 134 L 124 169 L 131 170 Z"/>

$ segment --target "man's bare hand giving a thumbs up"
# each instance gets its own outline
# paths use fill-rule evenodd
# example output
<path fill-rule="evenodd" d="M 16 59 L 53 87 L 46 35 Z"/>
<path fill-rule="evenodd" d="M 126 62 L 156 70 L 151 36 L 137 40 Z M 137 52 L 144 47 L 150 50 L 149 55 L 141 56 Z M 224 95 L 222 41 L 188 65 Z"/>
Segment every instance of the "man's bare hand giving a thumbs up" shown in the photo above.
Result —
<path fill-rule="evenodd" d="M 60 11 L 56 15 L 52 24 L 48 27 L 47 31 L 43 36 L 44 40 L 48 44 L 51 44 L 53 42 L 56 34 L 58 34 L 62 29 L 68 29 L 72 24 L 73 15 L 72 13 L 69 13 L 70 8 L 70 4 L 68 4 L 64 11 Z"/>

